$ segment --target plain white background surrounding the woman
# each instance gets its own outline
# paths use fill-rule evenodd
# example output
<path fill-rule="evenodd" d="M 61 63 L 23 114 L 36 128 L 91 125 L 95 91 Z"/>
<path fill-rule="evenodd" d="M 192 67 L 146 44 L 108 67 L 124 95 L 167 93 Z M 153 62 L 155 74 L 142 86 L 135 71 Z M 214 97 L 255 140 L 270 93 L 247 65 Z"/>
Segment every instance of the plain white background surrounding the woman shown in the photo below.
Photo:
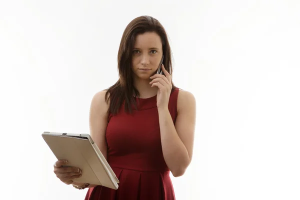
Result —
<path fill-rule="evenodd" d="M 88 133 L 117 80 L 125 26 L 165 27 L 173 80 L 197 102 L 177 199 L 300 198 L 300 1 L 0 1 L 0 199 L 83 199 L 59 181 L 43 131 Z"/>

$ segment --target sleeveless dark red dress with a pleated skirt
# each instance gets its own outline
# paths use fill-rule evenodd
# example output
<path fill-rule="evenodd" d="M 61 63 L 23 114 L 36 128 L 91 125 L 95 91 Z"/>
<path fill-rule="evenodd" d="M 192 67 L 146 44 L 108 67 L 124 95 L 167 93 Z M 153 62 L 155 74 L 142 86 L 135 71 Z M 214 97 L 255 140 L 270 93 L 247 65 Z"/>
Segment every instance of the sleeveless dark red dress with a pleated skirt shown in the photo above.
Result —
<path fill-rule="evenodd" d="M 178 88 L 169 97 L 168 109 L 175 123 Z M 174 200 L 169 169 L 160 140 L 156 95 L 137 98 L 137 109 L 109 114 L 106 128 L 107 162 L 119 179 L 118 189 L 88 188 L 85 200 Z"/>

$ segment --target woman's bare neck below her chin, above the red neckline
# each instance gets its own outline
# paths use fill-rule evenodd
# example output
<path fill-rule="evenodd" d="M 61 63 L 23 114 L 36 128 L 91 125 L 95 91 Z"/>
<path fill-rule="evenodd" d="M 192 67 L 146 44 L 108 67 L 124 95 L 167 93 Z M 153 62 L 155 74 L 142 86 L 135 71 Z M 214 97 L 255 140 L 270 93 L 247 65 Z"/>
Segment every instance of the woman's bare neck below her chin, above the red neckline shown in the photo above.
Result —
<path fill-rule="evenodd" d="M 133 85 L 139 92 L 139 97 L 140 98 L 149 98 L 152 96 L 155 96 L 157 94 L 157 87 L 151 87 L 151 84 L 149 82 L 151 79 L 146 80 L 146 79 L 134 79 L 133 80 Z"/>

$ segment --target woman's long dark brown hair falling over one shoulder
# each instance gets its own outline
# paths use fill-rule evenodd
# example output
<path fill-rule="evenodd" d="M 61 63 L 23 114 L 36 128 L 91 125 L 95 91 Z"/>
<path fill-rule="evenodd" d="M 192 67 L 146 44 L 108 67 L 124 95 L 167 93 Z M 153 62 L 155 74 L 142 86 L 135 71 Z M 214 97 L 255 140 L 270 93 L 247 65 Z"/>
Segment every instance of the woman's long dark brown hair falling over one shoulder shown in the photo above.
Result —
<path fill-rule="evenodd" d="M 118 49 L 117 68 L 119 79 L 107 89 L 105 94 L 106 102 L 110 100 L 108 113 L 116 114 L 124 101 L 125 112 L 131 113 L 132 104 L 136 107 L 134 96 L 139 97 L 139 92 L 133 86 L 132 50 L 136 36 L 144 32 L 156 32 L 160 36 L 164 55 L 163 65 L 170 74 L 172 73 L 171 48 L 163 26 L 151 16 L 144 15 L 134 18 L 126 26 Z M 174 88 L 173 82 L 171 83 L 172 88 Z"/>

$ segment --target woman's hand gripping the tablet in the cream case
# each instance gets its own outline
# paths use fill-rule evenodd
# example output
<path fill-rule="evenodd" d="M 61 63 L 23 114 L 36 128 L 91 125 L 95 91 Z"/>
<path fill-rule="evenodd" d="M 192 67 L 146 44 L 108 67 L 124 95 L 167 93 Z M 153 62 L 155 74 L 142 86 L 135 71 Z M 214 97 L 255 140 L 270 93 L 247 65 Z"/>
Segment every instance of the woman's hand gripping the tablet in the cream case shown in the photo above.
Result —
<path fill-rule="evenodd" d="M 81 177 L 81 170 L 78 167 L 63 166 L 66 163 L 66 160 L 57 160 L 53 165 L 53 171 L 62 182 L 71 184 L 72 179 Z"/>

